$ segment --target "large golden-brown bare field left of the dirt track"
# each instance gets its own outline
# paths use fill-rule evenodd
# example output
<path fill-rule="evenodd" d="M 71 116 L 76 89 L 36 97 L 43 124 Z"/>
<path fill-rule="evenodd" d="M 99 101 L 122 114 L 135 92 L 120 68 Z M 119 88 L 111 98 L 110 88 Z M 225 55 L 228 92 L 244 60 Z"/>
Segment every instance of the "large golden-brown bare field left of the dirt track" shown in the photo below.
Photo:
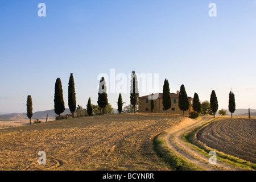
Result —
<path fill-rule="evenodd" d="M 152 139 L 184 117 L 114 114 L 0 130 L 1 170 L 170 170 Z M 46 152 L 46 165 L 38 152 Z"/>

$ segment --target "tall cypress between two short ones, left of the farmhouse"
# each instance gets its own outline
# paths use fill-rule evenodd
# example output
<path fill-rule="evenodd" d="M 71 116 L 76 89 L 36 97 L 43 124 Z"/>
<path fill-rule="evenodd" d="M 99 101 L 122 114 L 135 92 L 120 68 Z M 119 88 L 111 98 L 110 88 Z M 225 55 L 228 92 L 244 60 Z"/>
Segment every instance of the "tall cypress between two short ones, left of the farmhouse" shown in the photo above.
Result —
<path fill-rule="evenodd" d="M 98 88 L 98 106 L 102 108 L 102 114 L 104 109 L 108 105 L 108 94 L 106 93 L 106 82 L 105 78 L 101 77 L 100 86 Z"/>

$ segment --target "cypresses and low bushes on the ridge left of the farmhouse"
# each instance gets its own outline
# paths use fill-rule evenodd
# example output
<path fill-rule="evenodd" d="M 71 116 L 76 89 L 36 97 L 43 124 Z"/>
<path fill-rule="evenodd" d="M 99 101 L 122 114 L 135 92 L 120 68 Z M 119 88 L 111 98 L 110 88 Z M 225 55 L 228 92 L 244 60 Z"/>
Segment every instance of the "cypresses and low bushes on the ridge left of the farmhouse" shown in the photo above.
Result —
<path fill-rule="evenodd" d="M 138 81 L 135 71 L 131 72 L 131 93 L 130 93 L 130 105 L 126 106 L 124 109 L 127 113 L 130 113 L 131 110 L 134 112 L 138 109 Z M 63 88 L 61 84 L 61 79 L 57 78 L 55 81 L 55 93 L 54 93 L 54 111 L 55 114 L 58 115 L 58 119 L 61 118 L 61 114 L 65 110 L 65 103 L 63 98 Z M 113 113 L 113 108 L 108 102 L 108 94 L 106 93 L 106 82 L 105 78 L 101 77 L 99 90 L 98 90 L 98 105 L 93 105 L 91 99 L 89 97 L 86 109 L 83 109 L 82 106 L 78 105 L 76 107 L 76 92 L 75 92 L 75 81 L 73 78 L 73 73 L 69 76 L 68 82 L 68 107 L 71 111 L 72 118 L 75 117 L 75 112 L 78 117 L 85 116 L 85 115 L 93 115 L 93 114 L 105 114 L 105 113 Z M 122 95 L 119 93 L 118 96 L 118 113 L 122 113 L 123 109 L 122 106 L 125 102 L 122 101 Z M 30 95 L 27 96 L 27 117 L 30 119 L 31 125 L 31 118 L 33 115 L 32 112 L 32 97 Z M 85 114 L 86 113 L 86 114 Z M 63 118 L 69 118 L 69 114 L 67 114 Z"/>

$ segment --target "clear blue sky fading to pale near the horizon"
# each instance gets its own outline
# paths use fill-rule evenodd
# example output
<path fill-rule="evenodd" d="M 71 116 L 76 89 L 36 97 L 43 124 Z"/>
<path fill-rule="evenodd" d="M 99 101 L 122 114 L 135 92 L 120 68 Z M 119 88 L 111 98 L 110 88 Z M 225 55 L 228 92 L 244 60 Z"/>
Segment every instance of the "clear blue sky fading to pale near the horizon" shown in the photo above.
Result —
<path fill-rule="evenodd" d="M 201 101 L 214 89 L 219 109 L 232 88 L 237 109 L 256 109 L 256 1 L 0 1 L 0 112 L 26 112 L 28 95 L 34 112 L 53 109 L 57 77 L 68 107 L 70 73 L 77 104 L 97 104 L 97 77 L 110 69 L 127 84 L 133 70 L 159 74 L 159 92 L 167 78 L 171 92 L 184 84 Z M 118 94 L 108 94 L 115 108 Z"/>

